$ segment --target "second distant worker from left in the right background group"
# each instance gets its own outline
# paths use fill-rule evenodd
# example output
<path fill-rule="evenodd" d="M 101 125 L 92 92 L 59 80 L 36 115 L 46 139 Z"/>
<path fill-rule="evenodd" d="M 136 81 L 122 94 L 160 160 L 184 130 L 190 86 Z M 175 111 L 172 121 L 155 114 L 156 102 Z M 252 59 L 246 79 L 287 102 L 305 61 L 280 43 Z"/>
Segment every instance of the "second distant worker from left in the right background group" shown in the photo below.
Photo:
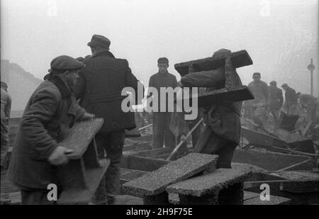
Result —
<path fill-rule="evenodd" d="M 272 116 L 274 116 L 275 125 L 279 125 L 279 110 L 284 103 L 284 96 L 281 89 L 277 87 L 277 82 L 270 82 L 269 91 L 269 108 Z"/>

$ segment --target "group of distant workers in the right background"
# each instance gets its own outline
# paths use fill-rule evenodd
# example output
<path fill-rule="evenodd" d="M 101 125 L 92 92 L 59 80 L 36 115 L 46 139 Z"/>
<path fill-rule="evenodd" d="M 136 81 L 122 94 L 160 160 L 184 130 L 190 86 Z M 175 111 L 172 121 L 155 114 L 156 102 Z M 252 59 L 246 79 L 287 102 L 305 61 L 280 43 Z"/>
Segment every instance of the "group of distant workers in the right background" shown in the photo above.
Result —
<path fill-rule="evenodd" d="M 306 122 L 315 123 L 318 111 L 318 99 L 310 94 L 296 93 L 288 84 L 282 84 L 281 88 L 285 91 L 285 101 L 281 89 L 275 81 L 269 83 L 261 80 L 261 74 L 255 72 L 252 76 L 254 79 L 248 85 L 254 95 L 254 100 L 246 102 L 246 109 L 249 117 L 254 123 L 264 128 L 267 122 L 267 114 L 271 113 L 274 118 L 274 125 L 279 126 L 280 113 L 287 115 L 298 114 L 301 109 L 306 111 Z"/>

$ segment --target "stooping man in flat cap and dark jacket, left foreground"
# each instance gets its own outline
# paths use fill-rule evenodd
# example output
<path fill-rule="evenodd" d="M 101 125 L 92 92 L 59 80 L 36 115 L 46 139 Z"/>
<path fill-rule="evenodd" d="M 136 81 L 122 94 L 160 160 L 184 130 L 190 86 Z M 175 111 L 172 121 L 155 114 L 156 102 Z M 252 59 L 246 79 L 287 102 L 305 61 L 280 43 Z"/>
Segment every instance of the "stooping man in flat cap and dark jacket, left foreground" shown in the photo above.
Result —
<path fill-rule="evenodd" d="M 50 77 L 33 92 L 18 127 L 8 176 L 21 189 L 22 204 L 55 204 L 47 200 L 47 185 L 61 189 L 56 170 L 72 150 L 59 145 L 77 120 L 94 118 L 72 93 L 82 62 L 62 55 L 51 62 Z M 61 192 L 59 190 L 58 192 Z"/>

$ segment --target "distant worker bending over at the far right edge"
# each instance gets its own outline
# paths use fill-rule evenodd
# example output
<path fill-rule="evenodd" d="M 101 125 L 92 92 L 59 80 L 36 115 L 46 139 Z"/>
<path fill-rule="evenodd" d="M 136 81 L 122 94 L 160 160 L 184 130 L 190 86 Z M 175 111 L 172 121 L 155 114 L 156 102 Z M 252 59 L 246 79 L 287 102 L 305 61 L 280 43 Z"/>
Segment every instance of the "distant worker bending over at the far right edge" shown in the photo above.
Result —
<path fill-rule="evenodd" d="M 301 107 L 306 110 L 306 122 L 315 123 L 317 120 L 318 99 L 310 94 L 297 94 Z"/>

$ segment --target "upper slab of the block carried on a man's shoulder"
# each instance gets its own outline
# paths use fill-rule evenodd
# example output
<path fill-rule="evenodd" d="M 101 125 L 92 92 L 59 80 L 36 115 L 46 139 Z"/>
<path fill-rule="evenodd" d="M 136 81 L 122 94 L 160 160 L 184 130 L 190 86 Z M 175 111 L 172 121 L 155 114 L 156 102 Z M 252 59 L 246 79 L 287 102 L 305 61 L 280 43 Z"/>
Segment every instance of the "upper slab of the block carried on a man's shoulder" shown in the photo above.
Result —
<path fill-rule="evenodd" d="M 218 55 L 216 57 L 207 57 L 201 60 L 192 60 L 189 62 L 181 62 L 174 64 L 175 69 L 181 76 L 189 74 L 189 67 L 192 67 L 191 72 L 209 71 L 218 69 L 225 65 L 225 58 L 228 55 Z M 230 54 L 231 61 L 235 68 L 243 67 L 252 64 L 252 59 L 246 50 L 232 52 Z"/>

